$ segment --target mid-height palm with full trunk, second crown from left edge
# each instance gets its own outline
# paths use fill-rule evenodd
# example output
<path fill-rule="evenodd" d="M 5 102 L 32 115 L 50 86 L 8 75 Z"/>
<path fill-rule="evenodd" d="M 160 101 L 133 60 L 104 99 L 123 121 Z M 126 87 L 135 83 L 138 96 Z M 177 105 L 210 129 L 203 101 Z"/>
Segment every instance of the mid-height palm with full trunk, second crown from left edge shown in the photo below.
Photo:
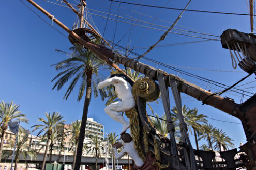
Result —
<path fill-rule="evenodd" d="M 46 120 L 44 118 L 39 118 L 38 121 L 41 121 L 42 124 L 34 125 L 33 131 L 40 129 L 37 135 L 40 135 L 42 132 L 44 132 L 43 137 L 47 138 L 46 142 L 46 151 L 44 152 L 43 156 L 43 163 L 42 163 L 42 169 L 44 169 L 44 166 L 46 164 L 46 156 L 49 149 L 49 143 L 51 139 L 51 135 L 54 131 L 54 129 L 62 129 L 64 127 L 63 117 L 59 115 L 59 112 L 53 112 L 52 114 L 45 112 L 46 114 Z"/>

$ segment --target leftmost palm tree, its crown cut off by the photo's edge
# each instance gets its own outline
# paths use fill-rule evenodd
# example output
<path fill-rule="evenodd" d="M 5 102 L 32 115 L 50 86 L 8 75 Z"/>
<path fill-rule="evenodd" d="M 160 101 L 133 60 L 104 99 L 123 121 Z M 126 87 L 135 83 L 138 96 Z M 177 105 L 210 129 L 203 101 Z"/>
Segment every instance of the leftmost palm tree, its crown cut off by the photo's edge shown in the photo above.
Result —
<path fill-rule="evenodd" d="M 4 101 L 2 101 L 0 103 L 0 119 L 1 119 L 1 123 L 0 123 L 0 127 L 2 130 L 2 134 L 1 134 L 1 142 L 0 142 L 0 160 L 1 160 L 1 156 L 2 156 L 2 150 L 3 150 L 3 144 L 4 144 L 4 136 L 5 136 L 5 132 L 6 129 L 8 128 L 8 122 L 12 121 L 12 120 L 20 120 L 21 122 L 25 122 L 28 123 L 28 120 L 25 114 L 21 114 L 20 110 L 18 109 L 20 107 L 20 105 L 14 104 L 13 105 L 13 101 L 11 101 L 11 103 L 5 103 Z"/>

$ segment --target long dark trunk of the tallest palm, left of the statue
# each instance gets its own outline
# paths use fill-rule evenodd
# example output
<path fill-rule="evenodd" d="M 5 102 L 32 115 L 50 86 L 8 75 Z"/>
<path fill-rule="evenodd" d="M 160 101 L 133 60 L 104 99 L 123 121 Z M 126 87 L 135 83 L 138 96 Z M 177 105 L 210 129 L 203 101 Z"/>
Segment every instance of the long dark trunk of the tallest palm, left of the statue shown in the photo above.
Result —
<path fill-rule="evenodd" d="M 76 164 L 74 166 L 74 170 L 79 170 L 81 164 L 81 157 L 83 151 L 83 144 L 84 144 L 84 133 L 86 128 L 87 122 L 87 115 L 88 115 L 88 108 L 91 101 L 91 93 L 92 93 L 92 73 L 86 74 L 86 95 L 84 100 L 84 109 L 83 109 L 83 116 L 82 122 L 80 127 L 80 133 L 78 138 L 78 148 L 77 148 L 77 156 L 76 156 Z"/>

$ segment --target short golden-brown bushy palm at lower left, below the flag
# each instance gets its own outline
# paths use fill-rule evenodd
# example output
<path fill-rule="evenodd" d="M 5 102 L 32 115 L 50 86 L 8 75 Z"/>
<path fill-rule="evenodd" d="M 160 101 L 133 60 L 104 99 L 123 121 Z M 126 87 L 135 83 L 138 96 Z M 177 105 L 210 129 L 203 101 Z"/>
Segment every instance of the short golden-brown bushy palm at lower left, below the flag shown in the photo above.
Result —
<path fill-rule="evenodd" d="M 14 170 L 17 169 L 17 164 L 19 162 L 20 156 L 23 156 L 25 159 L 30 158 L 31 160 L 36 158 L 36 150 L 30 149 L 29 144 L 27 141 L 29 140 L 29 133 L 25 132 L 24 130 L 19 130 L 20 134 L 17 135 L 17 143 L 16 143 L 16 150 L 14 156 Z M 15 141 L 10 140 L 10 144 L 7 145 L 7 148 L 14 148 Z M 8 158 L 13 154 L 13 150 L 4 150 L 3 157 Z M 27 164 L 27 163 L 26 163 Z"/>

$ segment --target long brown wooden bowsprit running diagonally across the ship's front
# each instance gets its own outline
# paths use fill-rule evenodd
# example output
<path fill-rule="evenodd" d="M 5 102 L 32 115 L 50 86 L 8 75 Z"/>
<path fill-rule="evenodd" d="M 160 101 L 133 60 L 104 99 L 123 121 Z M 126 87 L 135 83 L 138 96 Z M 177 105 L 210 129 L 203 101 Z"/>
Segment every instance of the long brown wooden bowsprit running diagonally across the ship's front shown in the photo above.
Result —
<path fill-rule="evenodd" d="M 50 19 L 53 18 L 53 16 L 49 12 L 47 12 L 42 7 L 37 5 L 34 1 L 32 1 L 32 0 L 27 0 L 27 1 L 29 3 L 31 3 L 32 5 L 34 5 L 42 13 L 46 14 L 48 16 L 48 18 L 50 18 Z M 101 48 L 99 45 L 93 44 L 91 42 L 86 42 L 82 38 L 80 38 L 76 33 L 71 31 L 67 26 L 65 26 L 63 23 L 58 21 L 56 18 L 53 18 L 53 21 L 56 24 L 58 24 L 60 27 L 62 27 L 65 31 L 67 31 L 71 36 L 73 36 L 78 42 L 83 44 L 89 50 L 92 50 L 92 52 L 95 53 L 99 58 L 107 61 L 108 64 L 110 64 L 112 67 L 114 67 L 118 71 L 122 71 L 122 70 L 119 69 L 119 67 L 117 65 L 115 65 L 112 61 L 110 61 L 109 59 L 116 61 L 118 63 L 121 63 L 124 66 L 130 67 L 131 69 L 133 69 L 135 71 L 138 71 L 142 74 L 145 74 L 145 75 L 157 80 L 157 69 L 155 69 L 154 67 L 148 66 L 141 62 L 135 62 L 134 60 L 132 60 L 128 57 L 125 57 L 125 56 L 117 54 L 117 53 L 113 53 L 112 50 L 110 50 L 110 49 Z M 169 74 L 166 72 L 163 72 L 163 74 L 164 74 L 165 78 L 167 78 L 167 76 L 169 76 Z M 183 92 L 193 98 L 196 98 L 199 101 L 204 101 L 207 97 L 209 97 L 213 94 L 207 90 L 200 88 L 199 86 L 196 86 L 195 84 L 192 84 L 186 80 L 180 79 L 179 77 L 176 77 L 176 81 L 177 81 L 178 87 L 180 87 L 179 88 L 180 92 Z M 218 95 L 213 95 L 208 98 L 208 102 L 206 104 L 213 106 L 214 108 L 217 108 L 225 113 L 228 113 L 228 114 L 240 119 L 239 105 L 236 104 L 232 100 L 223 98 Z"/>

